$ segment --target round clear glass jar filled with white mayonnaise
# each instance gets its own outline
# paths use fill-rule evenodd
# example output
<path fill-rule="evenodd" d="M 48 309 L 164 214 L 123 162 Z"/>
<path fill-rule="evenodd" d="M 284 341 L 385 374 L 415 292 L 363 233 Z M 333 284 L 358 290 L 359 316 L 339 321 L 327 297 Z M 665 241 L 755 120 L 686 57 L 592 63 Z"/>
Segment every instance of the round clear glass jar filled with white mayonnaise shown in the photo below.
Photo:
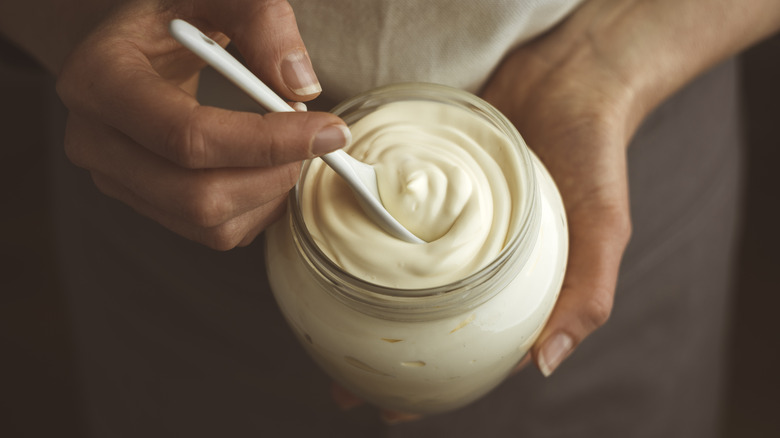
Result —
<path fill-rule="evenodd" d="M 560 195 L 514 126 L 478 97 L 432 84 L 382 87 L 332 112 L 352 124 L 397 101 L 454 105 L 488 120 L 517 149 L 524 202 L 498 257 L 451 284 L 395 289 L 361 280 L 318 248 L 304 223 L 301 188 L 266 233 L 274 296 L 311 357 L 377 406 L 431 414 L 462 407 L 499 385 L 528 352 L 560 291 L 568 237 Z M 366 245 L 366 250 L 371 250 Z"/>

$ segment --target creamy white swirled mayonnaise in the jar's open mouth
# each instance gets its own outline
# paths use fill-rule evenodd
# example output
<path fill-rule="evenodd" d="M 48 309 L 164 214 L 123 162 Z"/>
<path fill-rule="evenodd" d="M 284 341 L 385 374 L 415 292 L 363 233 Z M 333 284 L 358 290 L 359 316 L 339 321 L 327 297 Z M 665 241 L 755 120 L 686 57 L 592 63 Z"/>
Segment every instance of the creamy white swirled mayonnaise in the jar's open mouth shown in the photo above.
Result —
<path fill-rule="evenodd" d="M 514 178 L 519 157 L 504 134 L 463 108 L 427 101 L 383 105 L 350 129 L 348 152 L 375 165 L 387 210 L 428 243 L 382 230 L 316 160 L 301 208 L 328 257 L 354 276 L 402 289 L 451 283 L 496 258 L 523 202 Z"/>

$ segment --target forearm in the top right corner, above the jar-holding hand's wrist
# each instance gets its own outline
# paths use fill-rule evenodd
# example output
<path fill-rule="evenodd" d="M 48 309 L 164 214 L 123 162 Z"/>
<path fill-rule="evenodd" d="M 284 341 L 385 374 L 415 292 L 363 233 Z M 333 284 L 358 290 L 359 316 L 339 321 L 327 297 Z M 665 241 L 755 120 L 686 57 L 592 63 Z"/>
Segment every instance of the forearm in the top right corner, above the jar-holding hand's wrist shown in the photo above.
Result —
<path fill-rule="evenodd" d="M 778 28 L 777 0 L 636 1 L 597 31 L 594 44 L 615 54 L 615 68 L 648 111 Z"/>

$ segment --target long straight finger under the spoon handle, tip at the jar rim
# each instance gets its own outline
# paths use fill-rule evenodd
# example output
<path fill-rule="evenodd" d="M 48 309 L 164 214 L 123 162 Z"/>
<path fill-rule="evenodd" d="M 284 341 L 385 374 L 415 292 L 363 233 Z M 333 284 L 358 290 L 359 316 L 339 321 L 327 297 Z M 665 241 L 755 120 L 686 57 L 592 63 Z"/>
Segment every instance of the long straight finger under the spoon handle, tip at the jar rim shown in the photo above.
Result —
<path fill-rule="evenodd" d="M 102 67 L 113 69 L 113 67 Z M 133 68 L 133 67 L 128 67 Z M 274 166 L 345 146 L 349 131 L 327 113 L 255 113 L 201 106 L 184 90 L 136 66 L 126 88 L 120 72 L 98 73 L 77 108 L 187 168 Z M 117 88 L 118 87 L 118 88 Z"/>

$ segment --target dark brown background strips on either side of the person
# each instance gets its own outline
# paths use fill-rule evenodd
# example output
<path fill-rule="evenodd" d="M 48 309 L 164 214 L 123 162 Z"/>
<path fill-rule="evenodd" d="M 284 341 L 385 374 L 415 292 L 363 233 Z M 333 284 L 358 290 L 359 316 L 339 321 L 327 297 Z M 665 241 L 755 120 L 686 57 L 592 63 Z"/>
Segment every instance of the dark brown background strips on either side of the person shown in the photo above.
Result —
<path fill-rule="evenodd" d="M 747 196 L 724 436 L 780 436 L 780 37 L 742 57 Z M 52 256 L 53 80 L 0 41 L 0 436 L 82 437 Z"/>

